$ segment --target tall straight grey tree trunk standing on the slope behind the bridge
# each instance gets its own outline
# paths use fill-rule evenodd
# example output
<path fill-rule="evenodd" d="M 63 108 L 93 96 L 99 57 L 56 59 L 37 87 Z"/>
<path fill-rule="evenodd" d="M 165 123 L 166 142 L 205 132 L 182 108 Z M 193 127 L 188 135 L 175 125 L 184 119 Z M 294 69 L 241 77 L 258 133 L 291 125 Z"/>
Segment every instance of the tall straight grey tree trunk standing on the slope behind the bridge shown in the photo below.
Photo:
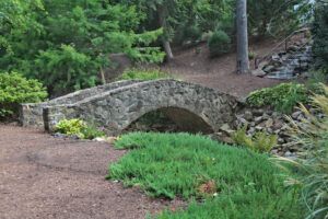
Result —
<path fill-rule="evenodd" d="M 237 73 L 249 72 L 247 1 L 237 0 Z"/>

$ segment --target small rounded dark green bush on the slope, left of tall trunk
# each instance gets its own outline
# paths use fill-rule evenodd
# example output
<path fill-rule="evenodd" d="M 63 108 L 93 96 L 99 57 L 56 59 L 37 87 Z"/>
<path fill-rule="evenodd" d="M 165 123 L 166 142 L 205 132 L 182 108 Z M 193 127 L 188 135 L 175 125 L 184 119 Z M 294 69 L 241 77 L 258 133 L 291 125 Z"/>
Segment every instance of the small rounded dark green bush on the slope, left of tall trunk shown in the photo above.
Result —
<path fill-rule="evenodd" d="M 231 38 L 223 31 L 216 31 L 208 41 L 211 57 L 226 54 L 231 49 Z"/>

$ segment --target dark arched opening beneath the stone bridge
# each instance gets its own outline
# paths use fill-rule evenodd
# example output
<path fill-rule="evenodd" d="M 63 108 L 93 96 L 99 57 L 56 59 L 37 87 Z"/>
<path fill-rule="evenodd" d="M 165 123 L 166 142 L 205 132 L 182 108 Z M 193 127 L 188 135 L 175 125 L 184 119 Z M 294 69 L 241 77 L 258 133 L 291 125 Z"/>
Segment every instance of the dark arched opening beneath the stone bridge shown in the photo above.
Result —
<path fill-rule="evenodd" d="M 200 116 L 178 107 L 163 107 L 143 114 L 132 122 L 122 132 L 156 131 L 156 132 L 191 132 L 212 134 L 213 128 Z"/>

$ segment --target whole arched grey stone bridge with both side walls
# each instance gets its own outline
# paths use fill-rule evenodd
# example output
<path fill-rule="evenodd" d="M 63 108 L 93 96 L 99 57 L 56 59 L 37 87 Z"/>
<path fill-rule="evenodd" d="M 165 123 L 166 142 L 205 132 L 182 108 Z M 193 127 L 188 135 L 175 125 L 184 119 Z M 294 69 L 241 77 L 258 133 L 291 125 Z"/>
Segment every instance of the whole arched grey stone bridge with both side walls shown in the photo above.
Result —
<path fill-rule="evenodd" d="M 220 91 L 171 79 L 119 81 L 39 104 L 22 104 L 21 123 L 54 131 L 63 118 L 81 118 L 118 135 L 144 114 L 161 110 L 186 131 L 214 132 L 234 122 L 237 103 Z"/>

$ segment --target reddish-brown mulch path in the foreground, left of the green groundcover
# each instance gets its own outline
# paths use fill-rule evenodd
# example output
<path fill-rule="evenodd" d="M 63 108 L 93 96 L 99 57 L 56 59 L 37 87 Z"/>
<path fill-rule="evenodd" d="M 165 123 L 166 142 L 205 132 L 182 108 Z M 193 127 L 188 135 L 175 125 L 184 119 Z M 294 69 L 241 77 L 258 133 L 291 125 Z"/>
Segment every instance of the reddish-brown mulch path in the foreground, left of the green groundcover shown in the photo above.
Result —
<path fill-rule="evenodd" d="M 0 124 L 0 219 L 144 218 L 178 201 L 105 181 L 125 151 Z"/>

